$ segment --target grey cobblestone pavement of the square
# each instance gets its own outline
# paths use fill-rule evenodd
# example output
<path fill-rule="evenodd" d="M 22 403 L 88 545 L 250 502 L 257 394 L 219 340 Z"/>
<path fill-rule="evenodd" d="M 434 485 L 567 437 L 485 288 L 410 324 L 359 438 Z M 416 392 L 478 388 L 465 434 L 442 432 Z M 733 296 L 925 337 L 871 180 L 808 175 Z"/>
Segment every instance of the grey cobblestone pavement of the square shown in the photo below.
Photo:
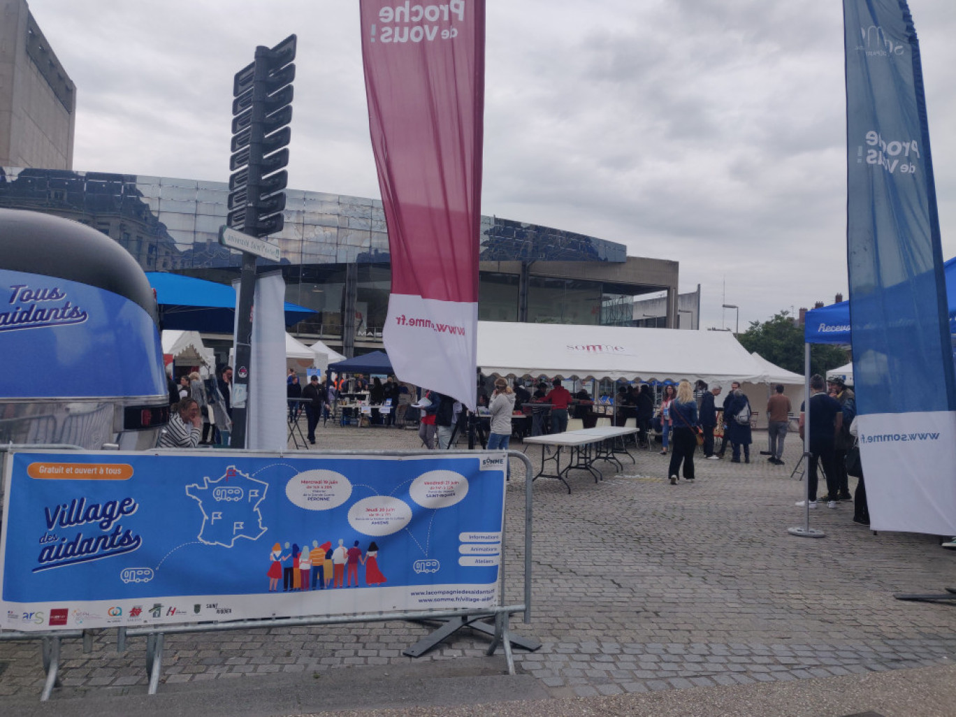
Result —
<path fill-rule="evenodd" d="M 421 445 L 414 431 L 395 428 L 329 424 L 317 435 L 325 449 Z M 656 451 L 636 452 L 633 464 L 624 458 L 622 470 L 602 465 L 599 483 L 573 473 L 571 494 L 536 481 L 532 622 L 516 616 L 512 626 L 543 645 L 515 651 L 519 670 L 554 697 L 587 697 L 950 664 L 956 610 L 893 595 L 956 587 L 956 553 L 933 536 L 874 534 L 851 521 L 850 503 L 812 511 L 826 537 L 791 535 L 804 519 L 793 505 L 804 484 L 791 476 L 801 446 L 792 435 L 777 467 L 759 455 L 766 435 L 754 438 L 749 465 L 699 458 L 693 483 L 669 485 L 668 457 Z M 539 446 L 527 453 L 539 464 Z M 510 603 L 523 584 L 524 488 L 513 462 Z M 428 630 L 396 621 L 170 636 L 163 676 L 172 684 L 415 663 L 402 650 Z M 487 646 L 456 634 L 419 661 L 477 658 Z M 143 641 L 128 641 L 123 654 L 115 633 L 98 635 L 89 653 L 70 641 L 61 676 L 67 688 L 139 693 Z M 0 642 L 0 706 L 3 696 L 38 694 L 43 678 L 37 642 Z"/>

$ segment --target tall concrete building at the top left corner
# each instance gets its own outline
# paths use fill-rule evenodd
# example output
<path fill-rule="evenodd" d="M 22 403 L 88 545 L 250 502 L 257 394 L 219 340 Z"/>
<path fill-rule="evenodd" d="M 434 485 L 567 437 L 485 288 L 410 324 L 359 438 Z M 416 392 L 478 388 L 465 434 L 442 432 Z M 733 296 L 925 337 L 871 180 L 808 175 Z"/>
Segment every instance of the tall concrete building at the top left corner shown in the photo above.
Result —
<path fill-rule="evenodd" d="M 76 87 L 24 0 L 0 0 L 0 166 L 73 168 Z"/>

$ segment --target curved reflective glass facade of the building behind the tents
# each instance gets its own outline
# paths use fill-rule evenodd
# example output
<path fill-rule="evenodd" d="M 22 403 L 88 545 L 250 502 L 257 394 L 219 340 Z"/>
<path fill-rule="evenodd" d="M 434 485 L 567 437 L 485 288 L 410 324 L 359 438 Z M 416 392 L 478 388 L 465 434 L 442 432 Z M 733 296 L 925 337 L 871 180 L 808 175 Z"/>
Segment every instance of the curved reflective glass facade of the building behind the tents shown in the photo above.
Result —
<path fill-rule="evenodd" d="M 293 331 L 346 353 L 380 341 L 391 284 L 381 202 L 294 189 L 286 195 L 285 227 L 272 237 L 282 252 L 286 298 L 316 311 Z M 97 228 L 147 272 L 220 282 L 238 276 L 240 253 L 218 240 L 227 200 L 228 185 L 219 182 L 0 167 L 0 206 Z M 635 295 L 666 288 L 664 281 L 621 281 L 619 272 L 613 280 L 596 278 L 595 265 L 629 261 L 625 247 L 555 228 L 483 216 L 480 252 L 479 317 L 485 320 L 628 325 Z M 592 269 L 580 276 L 542 272 L 555 262 Z"/>

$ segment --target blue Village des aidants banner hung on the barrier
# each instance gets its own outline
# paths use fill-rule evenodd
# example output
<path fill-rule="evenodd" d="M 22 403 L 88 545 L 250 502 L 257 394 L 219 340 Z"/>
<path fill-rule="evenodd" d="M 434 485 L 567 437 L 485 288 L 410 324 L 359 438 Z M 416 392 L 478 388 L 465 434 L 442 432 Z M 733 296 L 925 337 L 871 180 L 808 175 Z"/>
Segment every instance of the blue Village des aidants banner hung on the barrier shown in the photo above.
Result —
<path fill-rule="evenodd" d="M 8 456 L 19 630 L 496 604 L 505 458 Z"/>

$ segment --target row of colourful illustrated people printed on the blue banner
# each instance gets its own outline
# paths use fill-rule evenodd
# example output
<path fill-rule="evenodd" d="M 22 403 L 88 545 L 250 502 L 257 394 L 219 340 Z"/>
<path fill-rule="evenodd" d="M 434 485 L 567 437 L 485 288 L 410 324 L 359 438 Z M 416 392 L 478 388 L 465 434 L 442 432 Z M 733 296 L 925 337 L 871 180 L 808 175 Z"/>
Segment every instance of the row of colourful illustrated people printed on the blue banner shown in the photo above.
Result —
<path fill-rule="evenodd" d="M 331 541 L 319 545 L 312 541 L 310 548 L 304 543 L 285 547 L 279 543 L 272 546 L 269 554 L 269 592 L 279 592 L 279 580 L 282 580 L 282 592 L 299 590 L 325 590 L 332 588 L 359 587 L 359 567 L 365 568 L 365 585 L 375 586 L 385 582 L 385 576 L 379 569 L 379 546 L 373 540 L 362 552 L 359 541 L 351 548 L 345 547 L 345 540 L 338 539 L 333 548 Z"/>

